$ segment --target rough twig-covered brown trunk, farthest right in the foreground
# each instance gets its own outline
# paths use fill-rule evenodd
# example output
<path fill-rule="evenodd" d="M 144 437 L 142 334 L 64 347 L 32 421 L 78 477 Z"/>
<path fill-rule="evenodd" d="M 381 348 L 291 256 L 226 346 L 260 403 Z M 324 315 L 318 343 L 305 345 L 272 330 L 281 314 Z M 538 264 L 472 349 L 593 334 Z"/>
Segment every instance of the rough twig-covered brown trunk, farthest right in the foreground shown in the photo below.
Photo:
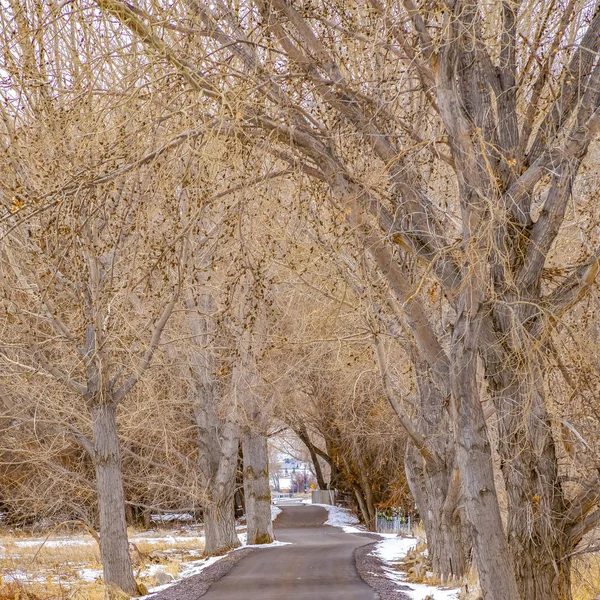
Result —
<path fill-rule="evenodd" d="M 507 530 L 523 600 L 570 600 L 571 560 L 565 543 L 566 501 L 542 370 L 522 358 L 521 372 L 488 369 L 498 414 L 498 450 L 508 499 Z M 528 365 L 523 367 L 523 365 Z"/>

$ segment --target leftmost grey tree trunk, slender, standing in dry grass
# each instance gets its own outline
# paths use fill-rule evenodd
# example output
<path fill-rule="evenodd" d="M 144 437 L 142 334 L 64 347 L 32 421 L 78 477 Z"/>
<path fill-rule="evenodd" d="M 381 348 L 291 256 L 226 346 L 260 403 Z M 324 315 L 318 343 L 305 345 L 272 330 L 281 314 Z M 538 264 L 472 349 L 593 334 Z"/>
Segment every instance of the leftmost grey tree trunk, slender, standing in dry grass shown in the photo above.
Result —
<path fill-rule="evenodd" d="M 95 405 L 92 425 L 104 584 L 109 594 L 119 588 L 130 596 L 139 596 L 128 549 L 116 406 L 112 403 Z"/>

